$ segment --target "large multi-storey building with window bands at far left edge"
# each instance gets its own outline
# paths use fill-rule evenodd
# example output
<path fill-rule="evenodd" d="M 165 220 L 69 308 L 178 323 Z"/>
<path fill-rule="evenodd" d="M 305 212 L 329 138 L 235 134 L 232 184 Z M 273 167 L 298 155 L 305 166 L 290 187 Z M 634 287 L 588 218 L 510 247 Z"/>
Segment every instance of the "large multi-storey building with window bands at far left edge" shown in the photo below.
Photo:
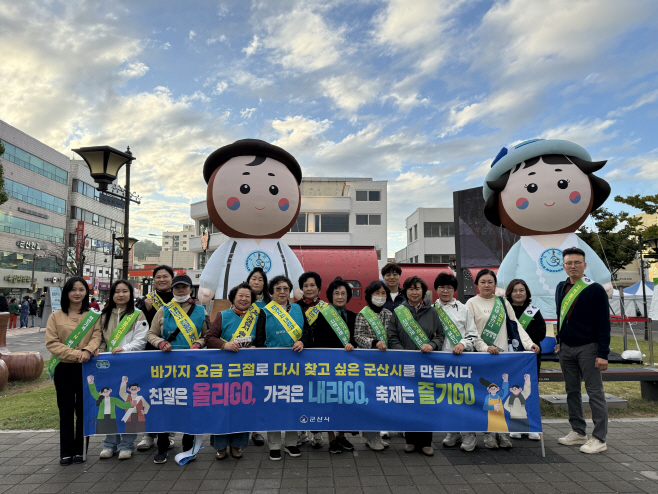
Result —
<path fill-rule="evenodd" d="M 52 254 L 65 249 L 70 162 L 2 120 L 0 141 L 9 196 L 0 205 L 0 292 L 19 298 L 62 281 Z"/>

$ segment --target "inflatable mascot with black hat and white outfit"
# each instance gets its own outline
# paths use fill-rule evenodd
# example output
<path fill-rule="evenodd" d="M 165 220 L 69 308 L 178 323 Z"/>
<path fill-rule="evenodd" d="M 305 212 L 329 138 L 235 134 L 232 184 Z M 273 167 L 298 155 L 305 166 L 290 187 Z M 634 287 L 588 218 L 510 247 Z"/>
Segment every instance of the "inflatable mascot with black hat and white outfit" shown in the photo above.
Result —
<path fill-rule="evenodd" d="M 242 139 L 208 156 L 203 178 L 210 221 L 229 239 L 201 273 L 201 303 L 227 299 L 255 267 L 269 279 L 285 275 L 296 282 L 304 270 L 280 239 L 299 215 L 302 169 L 297 160 L 265 141 Z"/>

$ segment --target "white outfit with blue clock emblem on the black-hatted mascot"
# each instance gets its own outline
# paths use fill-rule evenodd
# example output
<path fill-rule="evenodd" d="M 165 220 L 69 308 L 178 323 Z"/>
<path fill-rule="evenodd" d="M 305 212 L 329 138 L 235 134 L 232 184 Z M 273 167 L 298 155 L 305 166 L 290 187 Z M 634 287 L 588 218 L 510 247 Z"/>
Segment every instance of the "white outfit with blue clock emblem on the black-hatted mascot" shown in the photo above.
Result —
<path fill-rule="evenodd" d="M 268 280 L 286 275 L 287 270 L 294 288 L 297 288 L 297 280 L 304 273 L 297 256 L 281 239 L 266 238 L 256 243 L 252 238 L 229 238 L 208 259 L 199 278 L 199 286 L 214 291 L 216 299 L 227 299 L 231 288 L 246 281 L 256 267 L 263 268 Z"/>

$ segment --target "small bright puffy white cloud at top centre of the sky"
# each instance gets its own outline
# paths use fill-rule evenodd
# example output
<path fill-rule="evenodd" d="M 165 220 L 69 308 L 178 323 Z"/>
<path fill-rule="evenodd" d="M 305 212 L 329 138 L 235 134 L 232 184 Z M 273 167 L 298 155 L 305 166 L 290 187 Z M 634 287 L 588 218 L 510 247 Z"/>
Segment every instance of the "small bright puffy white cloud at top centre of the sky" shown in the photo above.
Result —
<path fill-rule="evenodd" d="M 264 26 L 263 45 L 284 67 L 308 72 L 340 60 L 345 29 L 327 25 L 316 12 L 298 8 L 266 19 Z"/>

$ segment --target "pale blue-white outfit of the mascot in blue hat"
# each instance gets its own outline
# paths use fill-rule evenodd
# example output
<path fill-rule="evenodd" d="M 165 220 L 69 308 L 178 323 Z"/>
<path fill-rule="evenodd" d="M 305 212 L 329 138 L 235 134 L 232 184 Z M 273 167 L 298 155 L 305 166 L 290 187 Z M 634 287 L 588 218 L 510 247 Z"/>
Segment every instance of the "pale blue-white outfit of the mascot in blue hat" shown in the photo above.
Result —
<path fill-rule="evenodd" d="M 533 237 L 521 237 L 503 259 L 498 270 L 498 287 L 503 290 L 515 278 L 524 280 L 532 294 L 532 304 L 539 307 L 544 319 L 555 319 L 555 288 L 567 279 L 562 267 L 562 251 L 578 247 L 585 252 L 585 274 L 604 285 L 610 283 L 610 271 L 599 256 L 575 233 L 570 233 L 559 247 L 545 248 Z"/>

